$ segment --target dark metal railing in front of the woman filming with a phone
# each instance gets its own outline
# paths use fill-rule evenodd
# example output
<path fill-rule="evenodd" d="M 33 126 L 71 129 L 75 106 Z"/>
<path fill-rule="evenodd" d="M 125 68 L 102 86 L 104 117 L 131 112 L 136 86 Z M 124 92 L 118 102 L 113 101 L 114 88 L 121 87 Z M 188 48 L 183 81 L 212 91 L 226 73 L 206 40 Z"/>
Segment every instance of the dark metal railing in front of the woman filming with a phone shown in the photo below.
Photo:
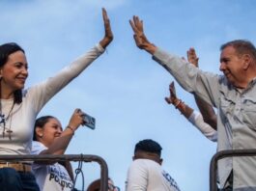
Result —
<path fill-rule="evenodd" d="M 108 169 L 103 158 L 98 155 L 89 154 L 42 154 L 42 155 L 0 155 L 0 162 L 21 162 L 21 161 L 82 161 L 98 162 L 100 164 L 100 191 L 108 189 Z"/>

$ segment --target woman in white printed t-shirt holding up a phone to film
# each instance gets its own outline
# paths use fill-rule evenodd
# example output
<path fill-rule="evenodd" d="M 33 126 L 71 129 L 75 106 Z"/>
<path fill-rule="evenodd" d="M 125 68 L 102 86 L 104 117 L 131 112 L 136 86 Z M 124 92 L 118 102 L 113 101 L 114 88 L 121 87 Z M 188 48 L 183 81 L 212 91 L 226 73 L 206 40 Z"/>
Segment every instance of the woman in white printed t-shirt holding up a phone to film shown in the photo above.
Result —
<path fill-rule="evenodd" d="M 63 131 L 62 124 L 52 116 L 37 119 L 34 128 L 32 154 L 64 154 L 74 131 L 84 124 L 84 113 L 75 109 L 69 125 Z M 73 175 L 70 161 L 34 162 L 32 171 L 42 191 L 65 190 L 73 188 Z"/>

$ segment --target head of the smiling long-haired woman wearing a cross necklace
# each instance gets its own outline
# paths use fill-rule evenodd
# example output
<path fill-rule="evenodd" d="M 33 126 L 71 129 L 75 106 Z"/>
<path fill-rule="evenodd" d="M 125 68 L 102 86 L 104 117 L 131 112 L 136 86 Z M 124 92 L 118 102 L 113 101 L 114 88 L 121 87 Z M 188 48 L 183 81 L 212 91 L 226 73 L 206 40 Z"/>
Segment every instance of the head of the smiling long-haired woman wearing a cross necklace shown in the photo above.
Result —
<path fill-rule="evenodd" d="M 14 97 L 14 103 L 22 101 L 21 90 L 28 77 L 25 51 L 16 43 L 0 45 L 0 91 Z M 10 97 L 1 97 L 10 98 Z"/>

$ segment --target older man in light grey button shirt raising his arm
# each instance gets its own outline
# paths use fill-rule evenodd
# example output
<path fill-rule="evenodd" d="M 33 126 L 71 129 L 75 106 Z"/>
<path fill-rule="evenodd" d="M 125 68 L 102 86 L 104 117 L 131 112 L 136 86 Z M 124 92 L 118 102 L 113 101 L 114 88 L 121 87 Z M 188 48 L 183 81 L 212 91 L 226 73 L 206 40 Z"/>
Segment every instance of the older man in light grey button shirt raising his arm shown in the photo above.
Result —
<path fill-rule="evenodd" d="M 256 49 L 250 41 L 221 45 L 223 75 L 205 72 L 147 40 L 138 16 L 129 20 L 140 49 L 166 68 L 188 92 L 217 108 L 217 150 L 246 150 L 256 146 Z M 222 190 L 256 190 L 256 158 L 233 157 L 218 161 Z"/>

